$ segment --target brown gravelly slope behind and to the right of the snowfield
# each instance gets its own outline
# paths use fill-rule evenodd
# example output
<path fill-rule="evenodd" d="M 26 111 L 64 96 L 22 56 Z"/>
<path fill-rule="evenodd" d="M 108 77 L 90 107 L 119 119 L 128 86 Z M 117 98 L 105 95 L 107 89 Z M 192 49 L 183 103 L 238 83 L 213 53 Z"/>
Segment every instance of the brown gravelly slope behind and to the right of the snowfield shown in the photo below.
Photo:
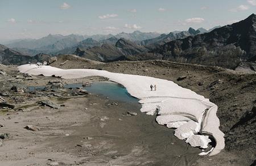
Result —
<path fill-rule="evenodd" d="M 52 63 L 63 69 L 73 68 L 74 59 L 59 65 L 65 58 Z M 139 74 L 172 80 L 182 87 L 204 95 L 218 105 L 221 131 L 225 133 L 225 150 L 205 163 L 217 165 L 250 165 L 255 159 L 255 74 L 243 74 L 221 67 L 190 65 L 168 61 L 123 61 L 113 63 L 77 64 L 76 68 L 100 69 L 125 74 Z M 127 70 L 129 69 L 129 70 Z M 178 78 L 182 77 L 182 80 Z M 178 79 L 178 80 L 177 80 Z M 246 158 L 245 158 L 246 156 Z M 215 163 L 214 163 L 215 162 Z M 209 165 L 210 165 L 209 164 Z"/>

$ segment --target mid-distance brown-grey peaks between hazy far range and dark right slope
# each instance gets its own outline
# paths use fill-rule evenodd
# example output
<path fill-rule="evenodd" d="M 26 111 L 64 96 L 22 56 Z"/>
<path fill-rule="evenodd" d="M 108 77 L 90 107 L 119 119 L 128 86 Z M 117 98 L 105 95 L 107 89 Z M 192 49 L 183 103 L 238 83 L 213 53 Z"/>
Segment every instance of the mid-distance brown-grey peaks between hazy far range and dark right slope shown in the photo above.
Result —
<path fill-rule="evenodd" d="M 202 29 L 203 28 L 201 28 L 201 30 Z M 207 30 L 205 29 L 204 32 L 205 31 Z M 119 40 L 117 37 L 111 37 L 102 41 L 96 41 L 92 38 L 89 38 L 79 42 L 75 54 L 77 56 L 102 62 L 129 59 L 127 57 L 136 56 L 137 54 L 148 52 L 149 50 L 155 49 L 156 46 L 162 45 L 168 41 L 183 39 L 185 37 L 196 35 L 199 33 L 203 32 L 201 32 L 199 29 L 195 30 L 193 28 L 189 28 L 188 31 L 182 31 L 177 33 L 171 32 L 168 35 L 162 34 L 153 39 L 147 39 L 142 41 L 127 40 L 125 39 L 125 37 L 122 37 Z M 155 58 L 158 57 L 154 57 L 154 59 Z"/>

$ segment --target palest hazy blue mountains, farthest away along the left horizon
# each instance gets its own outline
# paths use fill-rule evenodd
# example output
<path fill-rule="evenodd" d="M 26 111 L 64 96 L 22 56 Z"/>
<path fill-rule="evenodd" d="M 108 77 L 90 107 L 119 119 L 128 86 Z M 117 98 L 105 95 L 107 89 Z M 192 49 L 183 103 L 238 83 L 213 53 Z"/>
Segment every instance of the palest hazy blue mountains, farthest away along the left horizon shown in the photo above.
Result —
<path fill-rule="evenodd" d="M 68 52 L 68 49 L 72 49 L 74 47 L 83 44 L 82 42 L 87 42 L 83 40 L 93 39 L 98 42 L 110 39 L 112 37 L 116 37 L 117 40 L 120 38 L 125 38 L 128 40 L 133 41 L 141 41 L 146 39 L 151 39 L 154 37 L 159 36 L 159 33 L 156 32 L 140 32 L 134 31 L 133 33 L 118 33 L 117 35 L 92 35 L 92 36 L 81 36 L 81 35 L 51 35 L 49 34 L 46 37 L 42 37 L 41 39 L 25 39 L 25 40 L 16 40 L 9 44 L 6 44 L 9 48 L 13 48 L 16 51 L 27 53 L 34 55 L 38 52 L 47 53 L 47 54 L 58 54 L 59 52 L 66 53 L 65 50 Z M 81 43 L 79 43 L 81 42 Z M 88 45 L 87 47 L 92 46 Z M 93 45 L 96 46 L 96 45 Z"/>

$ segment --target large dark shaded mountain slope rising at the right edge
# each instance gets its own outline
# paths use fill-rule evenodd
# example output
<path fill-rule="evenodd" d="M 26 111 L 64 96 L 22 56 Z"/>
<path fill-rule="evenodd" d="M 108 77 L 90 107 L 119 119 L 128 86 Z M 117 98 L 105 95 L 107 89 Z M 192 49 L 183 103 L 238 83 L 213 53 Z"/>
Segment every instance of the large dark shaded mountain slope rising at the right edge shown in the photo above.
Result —
<path fill-rule="evenodd" d="M 168 61 L 235 69 L 241 61 L 256 56 L 256 15 L 209 33 L 167 42 L 151 53 Z"/>

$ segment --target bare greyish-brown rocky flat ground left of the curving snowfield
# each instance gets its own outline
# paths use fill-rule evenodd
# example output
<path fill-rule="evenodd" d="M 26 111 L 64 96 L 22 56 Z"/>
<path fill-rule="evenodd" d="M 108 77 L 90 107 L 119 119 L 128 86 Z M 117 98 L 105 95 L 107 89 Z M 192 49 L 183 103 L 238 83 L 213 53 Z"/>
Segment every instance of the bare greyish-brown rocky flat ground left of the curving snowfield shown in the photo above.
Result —
<path fill-rule="evenodd" d="M 63 59 L 81 62 L 75 58 L 80 57 Z M 191 165 L 199 158 L 199 149 L 139 112 L 138 103 L 64 88 L 105 78 L 47 78 L 20 74 L 15 67 L 0 65 L 1 164 Z"/>

